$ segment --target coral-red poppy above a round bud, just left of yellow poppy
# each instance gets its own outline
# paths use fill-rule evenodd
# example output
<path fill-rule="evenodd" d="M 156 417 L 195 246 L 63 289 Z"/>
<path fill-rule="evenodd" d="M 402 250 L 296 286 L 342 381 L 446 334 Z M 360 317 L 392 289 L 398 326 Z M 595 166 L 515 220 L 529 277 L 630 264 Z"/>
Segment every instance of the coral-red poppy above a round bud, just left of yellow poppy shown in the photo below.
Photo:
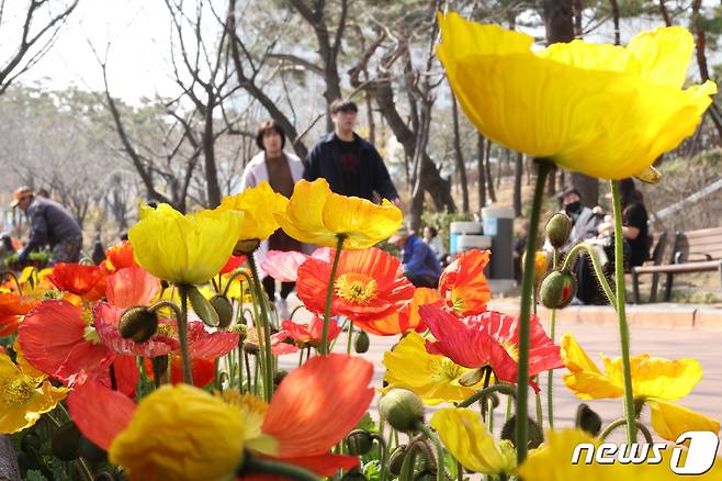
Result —
<path fill-rule="evenodd" d="M 125 267 L 105 278 L 105 298 L 117 307 L 150 302 L 158 293 L 158 279 L 140 266 Z"/>

